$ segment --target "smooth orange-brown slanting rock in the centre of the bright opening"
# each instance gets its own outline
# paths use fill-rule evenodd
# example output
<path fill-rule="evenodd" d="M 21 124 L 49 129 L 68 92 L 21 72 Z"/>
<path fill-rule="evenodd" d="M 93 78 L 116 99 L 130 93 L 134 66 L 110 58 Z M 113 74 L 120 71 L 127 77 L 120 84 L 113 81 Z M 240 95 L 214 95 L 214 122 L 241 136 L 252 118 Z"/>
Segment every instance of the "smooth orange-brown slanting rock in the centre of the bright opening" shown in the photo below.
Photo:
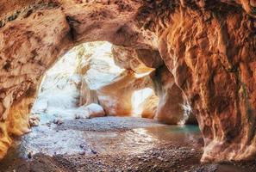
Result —
<path fill-rule="evenodd" d="M 133 71 L 124 71 L 113 82 L 97 90 L 99 104 L 109 115 L 132 115 L 132 95 L 135 90 L 151 87 L 151 78 L 135 77 Z"/>

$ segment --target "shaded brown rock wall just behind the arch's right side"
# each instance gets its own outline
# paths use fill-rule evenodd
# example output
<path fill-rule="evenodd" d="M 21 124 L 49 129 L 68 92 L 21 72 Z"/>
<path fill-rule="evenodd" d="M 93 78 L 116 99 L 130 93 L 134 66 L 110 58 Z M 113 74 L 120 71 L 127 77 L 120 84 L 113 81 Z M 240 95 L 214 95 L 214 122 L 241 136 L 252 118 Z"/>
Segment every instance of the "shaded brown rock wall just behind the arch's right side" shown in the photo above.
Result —
<path fill-rule="evenodd" d="M 183 107 L 185 103 L 184 95 L 182 90 L 175 84 L 172 73 L 166 68 L 158 51 L 113 46 L 112 53 L 116 64 L 122 68 L 132 70 L 136 73 L 147 73 L 147 75 L 150 75 L 151 81 L 148 81 L 146 86 L 154 90 L 154 93 L 159 97 L 159 102 L 155 110 L 153 110 L 155 106 L 154 101 L 152 101 L 153 107 L 148 107 L 147 101 L 150 102 L 149 100 L 145 102 L 146 108 L 155 111 L 154 114 L 153 112 L 151 114 L 143 114 L 145 117 L 148 116 L 149 118 L 170 125 L 177 125 L 186 121 Z M 131 83 L 134 83 L 133 79 L 129 80 L 131 80 Z M 145 83 L 145 81 L 142 83 Z M 140 89 L 143 88 L 142 85 Z"/>

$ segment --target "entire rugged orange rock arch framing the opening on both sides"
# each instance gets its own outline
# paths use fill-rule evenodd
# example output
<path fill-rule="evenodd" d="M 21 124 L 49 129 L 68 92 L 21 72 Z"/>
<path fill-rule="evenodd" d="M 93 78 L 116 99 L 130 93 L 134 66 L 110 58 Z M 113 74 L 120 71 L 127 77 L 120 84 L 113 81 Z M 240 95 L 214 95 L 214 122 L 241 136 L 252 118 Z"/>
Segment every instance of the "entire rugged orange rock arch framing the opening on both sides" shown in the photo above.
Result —
<path fill-rule="evenodd" d="M 254 0 L 3 0 L 0 8 L 0 158 L 11 136 L 28 132 L 47 69 L 72 46 L 94 40 L 144 53 L 140 61 L 155 62 L 149 67 L 166 66 L 156 74 L 159 105 L 190 104 L 203 133 L 203 162 L 255 157 Z M 172 107 L 162 96 L 173 96 Z"/>

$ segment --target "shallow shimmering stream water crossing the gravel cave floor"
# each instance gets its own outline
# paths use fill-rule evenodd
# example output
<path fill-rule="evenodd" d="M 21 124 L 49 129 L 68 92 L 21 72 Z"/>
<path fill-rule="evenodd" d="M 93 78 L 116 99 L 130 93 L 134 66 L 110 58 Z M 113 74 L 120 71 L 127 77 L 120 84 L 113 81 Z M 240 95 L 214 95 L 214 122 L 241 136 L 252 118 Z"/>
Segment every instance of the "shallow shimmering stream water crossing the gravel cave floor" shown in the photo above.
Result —
<path fill-rule="evenodd" d="M 197 146 L 200 138 L 197 126 L 153 126 L 136 128 L 124 132 L 90 132 L 54 130 L 41 125 L 33 132 L 17 140 L 3 162 L 8 163 L 18 157 L 28 157 L 28 153 L 55 154 L 140 154 L 158 147 L 158 144 Z M 11 163 L 10 163 L 11 164 Z"/>

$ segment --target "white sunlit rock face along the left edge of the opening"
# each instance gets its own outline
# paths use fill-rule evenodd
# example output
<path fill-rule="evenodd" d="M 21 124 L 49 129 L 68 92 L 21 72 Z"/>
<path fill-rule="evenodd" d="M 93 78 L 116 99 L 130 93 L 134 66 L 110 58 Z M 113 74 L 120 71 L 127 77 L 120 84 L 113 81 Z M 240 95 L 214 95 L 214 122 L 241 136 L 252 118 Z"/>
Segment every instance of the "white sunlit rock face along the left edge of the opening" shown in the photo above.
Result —
<path fill-rule="evenodd" d="M 32 109 L 33 113 L 58 114 L 59 117 L 73 116 L 73 108 L 78 107 L 81 75 L 78 67 L 84 46 L 77 46 L 66 53 L 46 72 L 39 94 Z"/>

